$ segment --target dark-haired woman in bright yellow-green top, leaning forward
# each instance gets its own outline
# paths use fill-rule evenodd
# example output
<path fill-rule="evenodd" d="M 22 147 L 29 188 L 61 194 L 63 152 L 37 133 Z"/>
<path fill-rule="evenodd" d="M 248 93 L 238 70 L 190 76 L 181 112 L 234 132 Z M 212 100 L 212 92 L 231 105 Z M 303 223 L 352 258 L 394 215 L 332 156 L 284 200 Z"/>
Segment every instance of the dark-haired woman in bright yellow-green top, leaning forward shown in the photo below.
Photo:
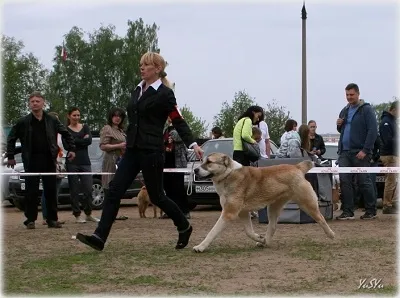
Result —
<path fill-rule="evenodd" d="M 263 109 L 259 106 L 251 106 L 238 119 L 233 129 L 233 160 L 243 166 L 250 166 L 250 159 L 243 150 L 243 143 L 256 144 L 257 142 L 251 137 L 253 124 L 257 123 Z"/>

